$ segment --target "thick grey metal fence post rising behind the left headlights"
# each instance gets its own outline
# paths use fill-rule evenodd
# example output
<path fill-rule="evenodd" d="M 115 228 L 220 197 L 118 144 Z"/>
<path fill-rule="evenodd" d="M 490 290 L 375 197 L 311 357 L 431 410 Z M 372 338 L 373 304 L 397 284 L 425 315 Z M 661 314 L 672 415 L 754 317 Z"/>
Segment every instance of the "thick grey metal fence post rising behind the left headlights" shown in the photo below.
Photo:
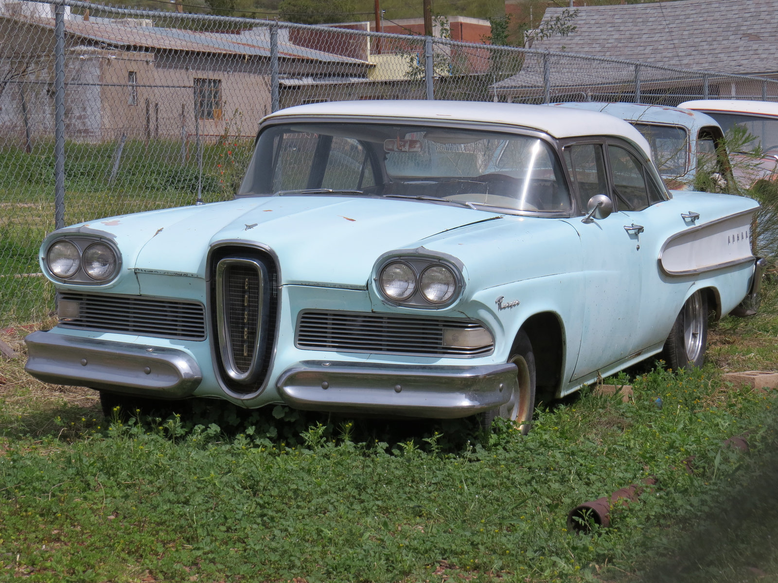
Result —
<path fill-rule="evenodd" d="M 65 226 L 65 5 L 54 9 L 54 228 Z"/>

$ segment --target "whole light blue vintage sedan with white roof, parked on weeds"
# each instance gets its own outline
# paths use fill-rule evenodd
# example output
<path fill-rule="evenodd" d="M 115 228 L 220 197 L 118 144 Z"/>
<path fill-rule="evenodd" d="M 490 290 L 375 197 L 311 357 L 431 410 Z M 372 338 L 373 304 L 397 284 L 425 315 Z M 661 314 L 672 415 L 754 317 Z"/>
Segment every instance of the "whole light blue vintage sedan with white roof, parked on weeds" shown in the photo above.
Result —
<path fill-rule="evenodd" d="M 745 197 L 670 194 L 591 111 L 317 103 L 265 117 L 233 201 L 53 232 L 26 370 L 143 398 L 499 415 L 662 354 L 756 292 Z"/>

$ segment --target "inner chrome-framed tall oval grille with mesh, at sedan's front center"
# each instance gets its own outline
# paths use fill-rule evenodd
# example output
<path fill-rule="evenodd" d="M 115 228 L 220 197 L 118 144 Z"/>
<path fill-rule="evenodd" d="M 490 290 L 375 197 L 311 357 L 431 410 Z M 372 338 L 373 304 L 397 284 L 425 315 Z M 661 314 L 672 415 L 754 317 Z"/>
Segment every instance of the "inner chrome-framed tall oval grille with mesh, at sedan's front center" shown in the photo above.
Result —
<path fill-rule="evenodd" d="M 226 375 L 241 385 L 263 372 L 270 285 L 265 264 L 225 257 L 216 264 L 216 326 Z"/>

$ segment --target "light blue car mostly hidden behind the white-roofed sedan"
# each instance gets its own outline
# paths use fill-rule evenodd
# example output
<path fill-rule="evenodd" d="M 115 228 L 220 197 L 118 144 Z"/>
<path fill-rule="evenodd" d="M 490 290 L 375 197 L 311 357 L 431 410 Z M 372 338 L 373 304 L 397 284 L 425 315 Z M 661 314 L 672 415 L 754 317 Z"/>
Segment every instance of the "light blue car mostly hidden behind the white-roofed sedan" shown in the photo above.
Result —
<path fill-rule="evenodd" d="M 710 115 L 645 103 L 568 101 L 551 105 L 601 111 L 629 121 L 647 139 L 659 175 L 671 190 L 695 190 L 696 183 L 708 190 L 735 190 L 724 131 Z"/>

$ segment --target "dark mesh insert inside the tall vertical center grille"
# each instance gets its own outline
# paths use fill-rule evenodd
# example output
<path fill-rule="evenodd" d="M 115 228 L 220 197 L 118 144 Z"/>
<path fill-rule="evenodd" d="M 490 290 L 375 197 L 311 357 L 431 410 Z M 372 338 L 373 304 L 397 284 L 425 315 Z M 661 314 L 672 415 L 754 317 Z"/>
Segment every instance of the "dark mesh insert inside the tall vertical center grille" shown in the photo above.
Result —
<path fill-rule="evenodd" d="M 259 322 L 259 274 L 251 267 L 230 267 L 226 273 L 230 347 L 235 368 L 246 372 L 254 361 Z"/>

